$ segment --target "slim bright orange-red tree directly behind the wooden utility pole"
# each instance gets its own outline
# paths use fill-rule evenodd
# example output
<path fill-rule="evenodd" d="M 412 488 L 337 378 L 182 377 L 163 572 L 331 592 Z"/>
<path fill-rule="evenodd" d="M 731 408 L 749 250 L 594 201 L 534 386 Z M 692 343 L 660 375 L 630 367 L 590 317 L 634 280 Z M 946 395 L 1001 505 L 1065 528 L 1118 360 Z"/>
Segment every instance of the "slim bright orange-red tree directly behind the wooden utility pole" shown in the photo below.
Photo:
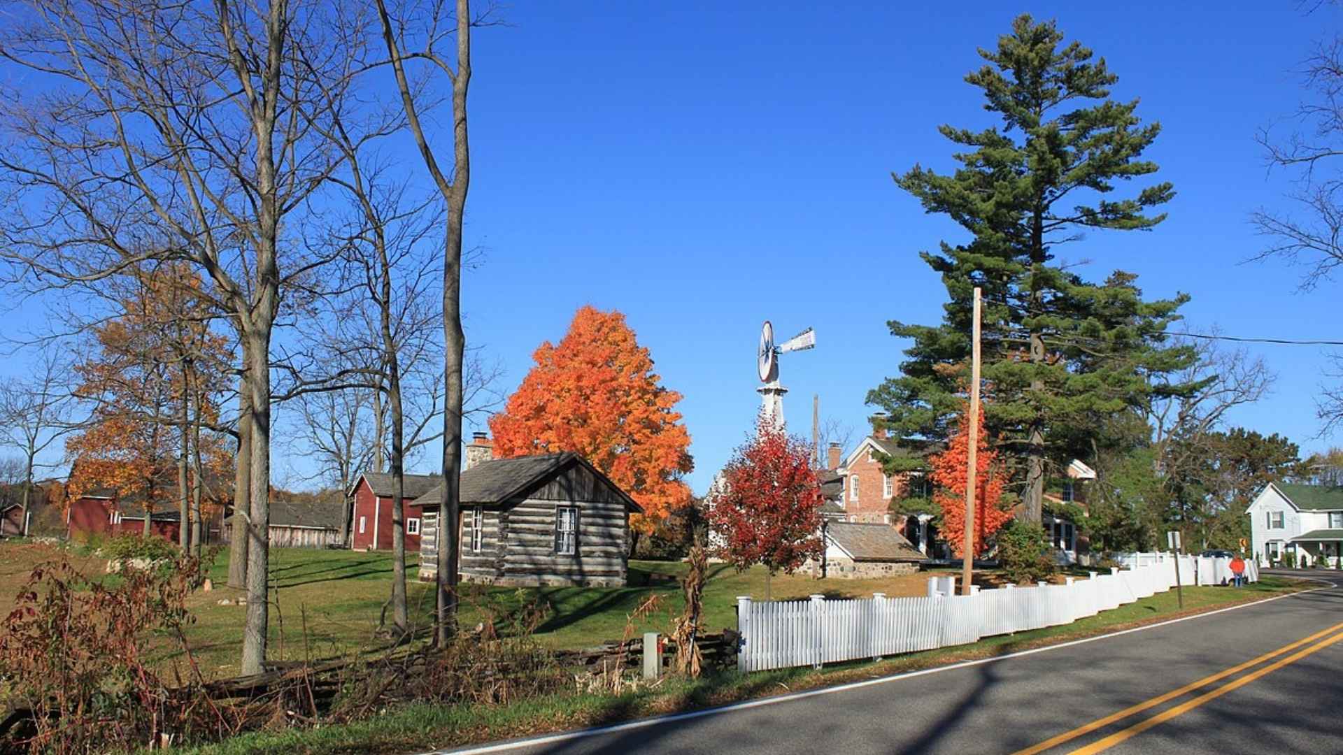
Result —
<path fill-rule="evenodd" d="M 983 555 L 988 537 L 1011 520 L 1011 510 L 1002 508 L 1006 476 L 998 463 L 998 451 L 988 449 L 980 411 L 975 457 L 975 532 L 974 555 Z M 928 461 L 932 481 L 937 485 L 933 501 L 941 506 L 941 535 L 952 553 L 962 556 L 966 544 L 966 486 L 970 458 L 970 410 L 960 412 L 956 433 L 947 441 L 947 450 Z"/>

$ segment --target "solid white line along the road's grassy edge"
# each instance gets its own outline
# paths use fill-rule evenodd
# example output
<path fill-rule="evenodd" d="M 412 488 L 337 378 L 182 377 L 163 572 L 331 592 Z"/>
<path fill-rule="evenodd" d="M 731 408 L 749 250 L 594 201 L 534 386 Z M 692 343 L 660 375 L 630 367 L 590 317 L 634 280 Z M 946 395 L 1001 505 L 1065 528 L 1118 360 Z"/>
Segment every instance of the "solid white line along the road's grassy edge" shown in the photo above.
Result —
<path fill-rule="evenodd" d="M 606 725 L 606 727 L 592 727 L 592 728 L 584 728 L 584 729 L 577 729 L 577 731 L 567 731 L 567 732 L 561 732 L 561 734 L 551 734 L 551 735 L 535 736 L 535 738 L 530 738 L 530 739 L 517 739 L 517 740 L 513 740 L 513 742 L 501 742 L 498 744 L 485 744 L 485 746 L 479 746 L 479 747 L 467 747 L 467 748 L 463 748 L 463 750 L 431 750 L 431 751 L 424 752 L 422 755 L 483 755 L 486 752 L 508 752 L 510 750 L 524 750 L 524 748 L 528 748 L 528 747 L 539 747 L 541 744 L 555 744 L 555 743 L 559 743 L 559 742 L 569 742 L 569 740 L 573 740 L 573 739 L 587 739 L 590 736 L 602 736 L 602 735 L 606 735 L 606 734 L 615 734 L 615 732 L 630 731 L 630 729 L 637 729 L 637 728 L 654 727 L 654 725 L 667 724 L 667 723 L 673 723 L 673 721 L 684 721 L 684 720 L 689 720 L 689 719 L 701 719 L 701 717 L 705 717 L 705 716 L 717 716 L 720 713 L 731 713 L 732 711 L 744 711 L 744 709 L 748 709 L 748 708 L 760 708 L 763 705 L 776 705 L 779 703 L 790 703 L 792 700 L 804 700 L 807 697 L 819 697 L 821 695 L 834 695 L 837 692 L 847 692 L 850 689 L 861 689 L 864 686 L 874 686 L 874 685 L 878 685 L 878 684 L 888 684 L 888 682 L 892 682 L 892 681 L 901 681 L 901 680 L 913 678 L 913 677 L 919 677 L 919 676 L 928 676 L 928 674 L 935 674 L 935 673 L 941 673 L 941 672 L 950 672 L 950 670 L 955 670 L 955 669 L 964 669 L 964 668 L 970 668 L 970 666 L 979 666 L 979 665 L 984 665 L 984 664 L 997 664 L 999 661 L 1009 661 L 1011 658 L 1021 658 L 1022 656 L 1034 656 L 1035 653 L 1048 653 L 1049 650 L 1060 650 L 1062 648 L 1073 648 L 1076 645 L 1085 645 L 1088 642 L 1097 642 L 1100 639 L 1111 639 L 1111 638 L 1115 638 L 1115 637 L 1121 637 L 1124 634 L 1132 634 L 1135 631 L 1146 631 L 1148 629 L 1156 629 L 1159 626 L 1170 626 L 1172 623 L 1180 623 L 1180 622 L 1186 622 L 1186 621 L 1190 621 L 1190 619 L 1201 619 L 1203 617 L 1211 617 L 1211 615 L 1217 615 L 1217 614 L 1225 614 L 1226 611 L 1234 611 L 1234 610 L 1238 610 L 1238 609 L 1248 609 L 1250 606 L 1260 606 L 1260 605 L 1264 605 L 1264 603 L 1270 603 L 1273 601 L 1281 601 L 1283 598 L 1295 598 L 1297 595 L 1305 595 L 1307 592 L 1315 592 L 1316 590 L 1328 590 L 1330 587 L 1343 587 L 1343 586 L 1335 584 L 1332 582 L 1328 582 L 1326 579 L 1319 579 L 1319 578 L 1313 578 L 1313 576 L 1301 576 L 1301 578 L 1295 578 L 1295 579 L 1315 579 L 1316 582 L 1324 582 L 1324 583 L 1327 583 L 1327 587 L 1312 587 L 1309 590 L 1301 590 L 1299 592 L 1288 592 L 1287 595 L 1275 595 L 1272 598 L 1264 598 L 1262 601 L 1253 601 L 1253 602 L 1249 602 L 1249 603 L 1238 603 L 1236 606 L 1228 606 L 1225 609 L 1217 609 L 1215 611 L 1205 611 L 1202 614 L 1194 614 L 1194 615 L 1189 615 L 1189 617 L 1180 617 L 1178 619 L 1167 619 L 1167 621 L 1158 622 L 1158 623 L 1148 623 L 1148 625 L 1143 625 L 1143 626 L 1135 626 L 1132 629 L 1124 629 L 1124 630 L 1120 630 L 1120 631 L 1112 631 L 1109 634 L 1097 634 L 1096 637 L 1086 637 L 1086 638 L 1082 638 L 1082 639 L 1070 639 L 1068 642 L 1060 642 L 1058 645 L 1046 645 L 1044 648 L 1033 648 L 1030 650 L 1018 650 L 1015 653 L 1009 653 L 1006 656 L 994 656 L 991 658 L 978 658 L 978 660 L 974 660 L 974 661 L 960 661 L 960 662 L 956 662 L 956 664 L 950 664 L 950 665 L 945 665 L 945 666 L 935 666 L 935 668 L 931 668 L 931 669 L 921 669 L 921 670 L 917 670 L 917 672 L 904 672 L 904 673 L 898 673 L 898 674 L 884 676 L 884 677 L 880 677 L 880 678 L 869 678 L 869 680 L 864 680 L 864 681 L 851 681 L 849 684 L 841 684 L 838 686 L 823 686 L 821 689 L 808 689 L 806 692 L 792 692 L 790 695 L 779 695 L 779 696 L 775 696 L 775 697 L 761 697 L 759 700 L 747 700 L 747 701 L 743 701 L 743 703 L 732 703 L 732 704 L 728 704 L 728 705 L 719 705 L 716 708 L 704 708 L 704 709 L 700 709 L 700 711 L 689 711 L 689 712 L 685 712 L 685 713 L 670 713 L 670 715 L 666 715 L 666 716 L 655 716 L 655 717 L 651 717 L 651 719 L 639 719 L 637 721 L 626 721 L 623 724 L 611 724 L 611 725 Z"/>

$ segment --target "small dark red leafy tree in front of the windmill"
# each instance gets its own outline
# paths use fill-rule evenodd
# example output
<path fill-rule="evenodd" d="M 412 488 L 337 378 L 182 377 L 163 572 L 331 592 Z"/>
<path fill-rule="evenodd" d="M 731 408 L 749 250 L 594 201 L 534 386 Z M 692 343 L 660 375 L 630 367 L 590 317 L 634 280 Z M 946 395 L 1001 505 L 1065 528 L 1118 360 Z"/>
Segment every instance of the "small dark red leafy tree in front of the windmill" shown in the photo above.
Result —
<path fill-rule="evenodd" d="M 761 419 L 710 493 L 709 525 L 723 539 L 721 556 L 737 571 L 766 567 L 768 601 L 768 575 L 791 574 L 825 549 L 821 502 L 811 447 Z"/>

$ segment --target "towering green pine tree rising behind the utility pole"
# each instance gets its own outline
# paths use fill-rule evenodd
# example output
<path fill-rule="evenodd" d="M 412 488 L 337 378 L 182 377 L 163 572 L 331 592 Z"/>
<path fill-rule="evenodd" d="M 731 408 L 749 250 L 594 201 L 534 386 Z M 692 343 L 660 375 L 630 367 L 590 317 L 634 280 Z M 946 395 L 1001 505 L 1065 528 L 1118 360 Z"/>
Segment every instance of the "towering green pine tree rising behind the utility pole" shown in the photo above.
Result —
<path fill-rule="evenodd" d="M 1160 130 L 1142 124 L 1138 102 L 1116 102 L 1117 77 L 1077 42 L 1062 46 L 1053 21 L 1013 21 L 987 63 L 966 77 L 979 87 L 999 126 L 974 132 L 950 125 L 952 175 L 915 165 L 896 184 L 928 212 L 944 214 L 972 239 L 921 253 L 941 274 L 950 302 L 939 326 L 892 321 L 913 339 L 902 375 L 870 391 L 880 420 L 904 435 L 945 439 L 968 380 L 971 297 L 984 294 L 986 423 L 1015 459 L 1026 516 L 1039 521 L 1045 477 L 1085 445 L 1096 416 L 1121 411 L 1150 391 L 1179 391 L 1163 378 L 1193 355 L 1167 345 L 1166 328 L 1187 297 L 1143 301 L 1132 275 L 1088 283 L 1056 262 L 1061 245 L 1088 228 L 1150 230 L 1152 210 L 1174 196 L 1168 183 L 1113 197 L 1117 181 L 1156 172 L 1142 160 Z M 1088 204 L 1089 203 L 1089 204 Z"/>

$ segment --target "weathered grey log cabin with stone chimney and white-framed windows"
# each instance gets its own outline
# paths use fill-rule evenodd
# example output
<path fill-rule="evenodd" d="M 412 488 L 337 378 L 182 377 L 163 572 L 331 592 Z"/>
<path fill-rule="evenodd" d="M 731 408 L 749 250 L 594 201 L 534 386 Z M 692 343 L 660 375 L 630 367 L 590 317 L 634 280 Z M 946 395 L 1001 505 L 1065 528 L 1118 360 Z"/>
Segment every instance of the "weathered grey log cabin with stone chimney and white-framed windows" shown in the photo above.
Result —
<path fill-rule="evenodd" d="M 639 505 L 573 453 L 490 459 L 469 446 L 461 477 L 461 579 L 501 586 L 623 587 L 630 513 Z M 471 453 L 475 451 L 475 453 Z M 436 575 L 442 484 L 411 501 L 420 520 L 422 580 Z"/>

